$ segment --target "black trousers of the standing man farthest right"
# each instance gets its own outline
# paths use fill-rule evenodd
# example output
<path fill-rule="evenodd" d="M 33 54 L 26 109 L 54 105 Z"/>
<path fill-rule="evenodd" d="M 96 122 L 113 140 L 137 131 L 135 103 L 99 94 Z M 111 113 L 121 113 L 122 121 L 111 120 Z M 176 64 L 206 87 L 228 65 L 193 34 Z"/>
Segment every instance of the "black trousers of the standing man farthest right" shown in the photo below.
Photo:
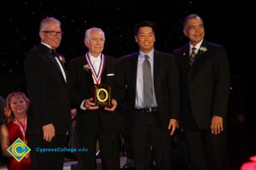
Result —
<path fill-rule="evenodd" d="M 219 134 L 211 133 L 211 122 L 208 129 L 199 129 L 190 105 L 188 113 L 182 119 L 191 170 L 228 170 L 225 126 L 224 131 Z"/>

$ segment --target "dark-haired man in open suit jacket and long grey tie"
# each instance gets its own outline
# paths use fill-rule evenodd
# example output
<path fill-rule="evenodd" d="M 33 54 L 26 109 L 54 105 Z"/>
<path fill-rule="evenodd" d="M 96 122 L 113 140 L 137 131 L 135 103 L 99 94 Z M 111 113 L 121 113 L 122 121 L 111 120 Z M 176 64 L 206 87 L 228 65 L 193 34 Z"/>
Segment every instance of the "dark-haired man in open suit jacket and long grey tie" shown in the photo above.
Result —
<path fill-rule="evenodd" d="M 172 54 L 154 49 L 154 33 L 152 22 L 138 23 L 134 34 L 140 50 L 121 58 L 127 90 L 125 115 L 137 170 L 150 169 L 152 156 L 158 169 L 171 169 L 171 136 L 179 117 L 177 65 Z M 144 68 L 147 60 L 150 71 Z M 148 73 L 150 81 L 143 79 Z M 149 105 L 147 98 L 151 98 Z"/>

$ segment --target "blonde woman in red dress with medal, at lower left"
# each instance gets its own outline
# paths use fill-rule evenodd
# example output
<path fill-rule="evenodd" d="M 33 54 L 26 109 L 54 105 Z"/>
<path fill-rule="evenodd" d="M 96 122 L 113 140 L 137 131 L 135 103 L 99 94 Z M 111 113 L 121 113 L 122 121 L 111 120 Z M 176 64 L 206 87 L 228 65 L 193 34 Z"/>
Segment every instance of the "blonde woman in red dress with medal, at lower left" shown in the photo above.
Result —
<path fill-rule="evenodd" d="M 26 113 L 29 99 L 22 92 L 14 92 L 8 95 L 4 108 L 6 120 L 1 127 L 1 147 L 3 156 L 10 158 L 8 163 L 9 170 L 31 170 L 32 162 L 29 155 L 20 161 L 15 160 L 7 150 L 16 139 L 20 138 L 25 144 L 26 141 Z"/>

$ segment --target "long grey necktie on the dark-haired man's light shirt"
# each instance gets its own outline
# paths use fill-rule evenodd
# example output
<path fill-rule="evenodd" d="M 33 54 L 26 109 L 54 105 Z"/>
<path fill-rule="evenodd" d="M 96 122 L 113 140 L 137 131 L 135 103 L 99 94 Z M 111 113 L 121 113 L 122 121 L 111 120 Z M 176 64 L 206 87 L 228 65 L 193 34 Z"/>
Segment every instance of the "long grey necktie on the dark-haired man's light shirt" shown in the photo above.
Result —
<path fill-rule="evenodd" d="M 146 107 L 151 107 L 153 105 L 153 81 L 148 58 L 148 55 L 145 55 L 143 62 L 143 98 Z"/>

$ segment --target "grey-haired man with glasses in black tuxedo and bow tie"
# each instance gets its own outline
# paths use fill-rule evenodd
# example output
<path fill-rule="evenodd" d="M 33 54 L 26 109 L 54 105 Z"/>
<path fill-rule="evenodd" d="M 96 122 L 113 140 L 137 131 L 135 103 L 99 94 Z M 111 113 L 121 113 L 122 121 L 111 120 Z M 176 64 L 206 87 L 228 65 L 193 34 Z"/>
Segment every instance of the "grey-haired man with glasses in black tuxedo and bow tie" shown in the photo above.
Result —
<path fill-rule="evenodd" d="M 70 127 L 70 102 L 67 74 L 55 53 L 61 43 L 61 22 L 53 17 L 41 21 L 41 44 L 26 55 L 26 88 L 31 100 L 27 115 L 29 146 L 33 169 L 63 169 L 64 152 L 53 151 L 65 146 Z M 40 153 L 38 149 L 53 149 Z"/>

